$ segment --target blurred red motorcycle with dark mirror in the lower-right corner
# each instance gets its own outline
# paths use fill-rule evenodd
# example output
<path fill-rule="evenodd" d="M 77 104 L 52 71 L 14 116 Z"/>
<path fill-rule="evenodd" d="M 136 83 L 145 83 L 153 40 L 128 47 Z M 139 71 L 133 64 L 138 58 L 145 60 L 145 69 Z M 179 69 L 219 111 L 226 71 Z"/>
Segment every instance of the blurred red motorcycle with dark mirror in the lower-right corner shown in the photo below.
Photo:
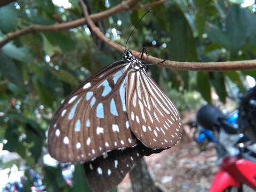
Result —
<path fill-rule="evenodd" d="M 220 169 L 209 191 L 242 192 L 245 185 L 256 190 L 256 143 L 239 133 L 239 127 L 227 119 L 218 108 L 210 105 L 202 107 L 197 114 L 197 122 L 210 129 L 217 140 L 214 143 Z"/>

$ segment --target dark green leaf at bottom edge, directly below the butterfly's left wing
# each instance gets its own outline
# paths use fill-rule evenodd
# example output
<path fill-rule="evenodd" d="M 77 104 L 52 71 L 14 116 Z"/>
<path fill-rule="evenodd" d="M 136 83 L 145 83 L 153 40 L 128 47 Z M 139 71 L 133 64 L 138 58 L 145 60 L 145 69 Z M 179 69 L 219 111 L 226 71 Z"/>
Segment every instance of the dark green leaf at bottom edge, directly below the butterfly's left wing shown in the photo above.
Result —
<path fill-rule="evenodd" d="M 87 183 L 84 167 L 81 163 L 77 163 L 73 175 L 73 192 L 90 192 L 90 187 Z"/>

